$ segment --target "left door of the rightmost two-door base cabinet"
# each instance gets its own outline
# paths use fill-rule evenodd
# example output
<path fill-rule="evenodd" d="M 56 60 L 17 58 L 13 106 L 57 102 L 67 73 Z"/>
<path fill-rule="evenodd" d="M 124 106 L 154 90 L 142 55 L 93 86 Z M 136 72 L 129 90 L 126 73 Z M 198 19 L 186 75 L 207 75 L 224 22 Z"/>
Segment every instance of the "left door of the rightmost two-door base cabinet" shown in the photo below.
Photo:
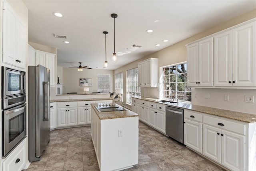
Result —
<path fill-rule="evenodd" d="M 221 162 L 221 135 L 220 129 L 203 125 L 203 154 L 211 159 Z"/>

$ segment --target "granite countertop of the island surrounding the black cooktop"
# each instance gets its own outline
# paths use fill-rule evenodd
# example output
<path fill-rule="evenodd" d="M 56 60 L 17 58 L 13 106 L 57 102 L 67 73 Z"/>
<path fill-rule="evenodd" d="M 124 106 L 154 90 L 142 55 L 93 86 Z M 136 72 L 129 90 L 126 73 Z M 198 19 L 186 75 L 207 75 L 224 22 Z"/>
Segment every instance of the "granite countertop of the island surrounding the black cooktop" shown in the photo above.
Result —
<path fill-rule="evenodd" d="M 137 113 L 134 113 L 133 111 L 130 111 L 129 109 L 126 109 L 126 110 L 123 110 L 123 111 L 99 112 L 96 109 L 95 105 L 98 106 L 98 103 L 91 103 L 92 109 L 98 115 L 100 120 L 102 120 L 102 119 L 116 119 L 116 118 L 122 118 L 122 117 L 136 117 L 136 116 L 139 116 Z M 120 105 L 118 105 L 118 106 L 120 106 Z M 123 106 L 120 106 L 120 107 L 123 107 Z M 123 108 L 125 108 L 125 107 L 123 107 Z"/>

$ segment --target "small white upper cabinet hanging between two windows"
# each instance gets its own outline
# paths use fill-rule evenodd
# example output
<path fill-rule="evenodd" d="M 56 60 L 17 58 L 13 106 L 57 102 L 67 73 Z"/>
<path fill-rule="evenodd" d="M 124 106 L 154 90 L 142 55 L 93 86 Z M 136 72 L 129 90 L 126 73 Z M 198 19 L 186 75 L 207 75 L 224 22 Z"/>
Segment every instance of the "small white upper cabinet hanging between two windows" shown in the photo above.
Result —
<path fill-rule="evenodd" d="M 138 63 L 138 85 L 143 87 L 158 87 L 158 59 L 149 58 Z"/>

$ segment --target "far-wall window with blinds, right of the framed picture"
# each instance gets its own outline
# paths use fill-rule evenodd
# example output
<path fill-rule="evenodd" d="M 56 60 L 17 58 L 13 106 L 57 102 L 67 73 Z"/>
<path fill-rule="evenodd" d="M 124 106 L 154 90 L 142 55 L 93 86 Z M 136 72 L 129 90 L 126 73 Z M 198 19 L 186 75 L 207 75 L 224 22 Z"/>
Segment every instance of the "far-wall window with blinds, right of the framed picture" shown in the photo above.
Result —
<path fill-rule="evenodd" d="M 110 74 L 98 74 L 98 91 L 101 93 L 110 92 Z"/>

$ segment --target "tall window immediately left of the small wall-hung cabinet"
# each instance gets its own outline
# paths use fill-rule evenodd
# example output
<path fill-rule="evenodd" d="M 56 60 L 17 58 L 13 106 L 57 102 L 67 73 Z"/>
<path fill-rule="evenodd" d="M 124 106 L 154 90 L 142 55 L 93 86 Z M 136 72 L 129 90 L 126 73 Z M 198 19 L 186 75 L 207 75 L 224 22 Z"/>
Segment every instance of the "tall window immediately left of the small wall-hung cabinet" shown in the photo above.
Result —
<path fill-rule="evenodd" d="M 132 96 L 140 96 L 140 87 L 138 86 L 138 68 L 127 70 L 126 89 L 126 103 L 132 104 Z"/>

